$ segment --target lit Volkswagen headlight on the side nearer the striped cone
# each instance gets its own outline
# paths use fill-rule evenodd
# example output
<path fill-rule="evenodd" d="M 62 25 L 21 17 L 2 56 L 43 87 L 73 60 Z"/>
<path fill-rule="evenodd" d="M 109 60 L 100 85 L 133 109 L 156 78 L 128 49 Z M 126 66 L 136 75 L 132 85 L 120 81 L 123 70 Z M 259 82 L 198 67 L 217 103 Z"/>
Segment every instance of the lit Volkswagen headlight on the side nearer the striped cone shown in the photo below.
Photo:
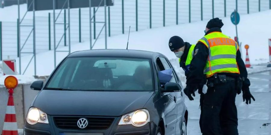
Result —
<path fill-rule="evenodd" d="M 26 122 L 30 125 L 37 123 L 49 124 L 47 114 L 36 107 L 31 107 L 27 113 Z"/>

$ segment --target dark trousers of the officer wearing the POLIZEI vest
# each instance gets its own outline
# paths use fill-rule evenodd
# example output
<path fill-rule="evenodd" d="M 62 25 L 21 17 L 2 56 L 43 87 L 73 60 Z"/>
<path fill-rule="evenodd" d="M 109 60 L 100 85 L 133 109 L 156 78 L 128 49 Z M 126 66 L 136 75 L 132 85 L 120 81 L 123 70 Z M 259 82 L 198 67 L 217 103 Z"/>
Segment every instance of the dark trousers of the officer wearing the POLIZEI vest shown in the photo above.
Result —
<path fill-rule="evenodd" d="M 201 112 L 203 135 L 238 135 L 235 81 L 208 86 Z"/>

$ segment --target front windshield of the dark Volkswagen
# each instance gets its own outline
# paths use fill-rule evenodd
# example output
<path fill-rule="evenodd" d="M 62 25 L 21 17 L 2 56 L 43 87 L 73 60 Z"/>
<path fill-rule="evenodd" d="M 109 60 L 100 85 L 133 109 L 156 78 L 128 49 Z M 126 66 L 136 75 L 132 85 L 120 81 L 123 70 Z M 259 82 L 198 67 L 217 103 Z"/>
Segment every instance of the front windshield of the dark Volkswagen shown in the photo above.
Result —
<path fill-rule="evenodd" d="M 150 59 L 66 58 L 44 89 L 75 91 L 153 91 Z"/>

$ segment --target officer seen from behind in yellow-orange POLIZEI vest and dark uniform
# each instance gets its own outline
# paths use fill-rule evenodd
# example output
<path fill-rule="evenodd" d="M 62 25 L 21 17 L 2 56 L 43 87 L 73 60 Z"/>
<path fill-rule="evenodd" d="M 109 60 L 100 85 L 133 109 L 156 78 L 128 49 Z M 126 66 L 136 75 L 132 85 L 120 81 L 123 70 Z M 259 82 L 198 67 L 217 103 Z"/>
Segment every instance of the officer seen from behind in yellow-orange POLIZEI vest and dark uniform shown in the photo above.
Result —
<path fill-rule="evenodd" d="M 195 95 L 199 82 L 207 78 L 208 89 L 201 112 L 203 135 L 238 135 L 236 94 L 243 91 L 246 104 L 251 104 L 251 99 L 255 101 L 238 44 L 222 33 L 222 26 L 219 18 L 207 23 L 205 36 L 195 46 L 184 90 L 193 100 L 191 95 Z M 204 76 L 201 76 L 203 70 Z"/>

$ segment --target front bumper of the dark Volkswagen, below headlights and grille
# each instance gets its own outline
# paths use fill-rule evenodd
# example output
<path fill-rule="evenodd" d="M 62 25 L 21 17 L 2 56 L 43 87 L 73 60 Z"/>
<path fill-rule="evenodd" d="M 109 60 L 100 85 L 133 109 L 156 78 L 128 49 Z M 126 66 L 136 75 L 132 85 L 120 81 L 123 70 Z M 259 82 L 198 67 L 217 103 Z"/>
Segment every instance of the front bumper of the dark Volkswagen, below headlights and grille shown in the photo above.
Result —
<path fill-rule="evenodd" d="M 149 122 L 142 127 L 132 125 L 118 125 L 120 117 L 115 118 L 111 126 L 106 130 L 70 130 L 60 129 L 55 125 L 52 117 L 48 116 L 49 124 L 37 123 L 29 125 L 25 123 L 24 135 L 63 135 L 62 133 L 102 133 L 102 135 L 155 135 L 157 125 Z M 90 134 L 92 135 L 92 134 Z"/>

